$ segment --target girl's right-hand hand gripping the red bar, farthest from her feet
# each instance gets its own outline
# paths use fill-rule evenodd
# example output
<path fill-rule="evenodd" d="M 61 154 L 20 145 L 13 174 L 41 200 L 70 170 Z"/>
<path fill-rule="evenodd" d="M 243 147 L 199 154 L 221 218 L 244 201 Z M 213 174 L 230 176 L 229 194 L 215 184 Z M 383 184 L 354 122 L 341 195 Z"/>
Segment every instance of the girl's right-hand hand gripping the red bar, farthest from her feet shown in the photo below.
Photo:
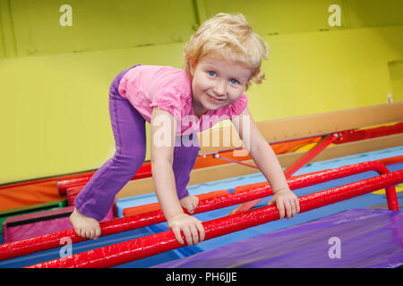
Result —
<path fill-rule="evenodd" d="M 270 199 L 269 205 L 272 205 L 274 202 L 279 209 L 280 219 L 285 217 L 285 211 L 287 213 L 287 219 L 299 213 L 298 198 L 296 198 L 296 194 L 290 189 L 280 189 L 277 191 L 273 198 Z"/>

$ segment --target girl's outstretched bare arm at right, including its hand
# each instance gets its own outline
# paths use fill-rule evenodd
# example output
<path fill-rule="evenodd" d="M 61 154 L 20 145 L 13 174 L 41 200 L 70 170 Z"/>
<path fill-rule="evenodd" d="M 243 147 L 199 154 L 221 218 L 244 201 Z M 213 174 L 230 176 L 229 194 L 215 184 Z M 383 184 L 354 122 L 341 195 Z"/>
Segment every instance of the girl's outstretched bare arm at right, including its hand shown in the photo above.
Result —
<path fill-rule="evenodd" d="M 263 138 L 249 110 L 245 108 L 244 112 L 236 116 L 232 122 L 249 155 L 270 183 L 274 197 L 269 204 L 276 202 L 280 218 L 285 216 L 285 210 L 287 210 L 287 218 L 299 213 L 298 199 L 288 187 L 279 159 Z"/>

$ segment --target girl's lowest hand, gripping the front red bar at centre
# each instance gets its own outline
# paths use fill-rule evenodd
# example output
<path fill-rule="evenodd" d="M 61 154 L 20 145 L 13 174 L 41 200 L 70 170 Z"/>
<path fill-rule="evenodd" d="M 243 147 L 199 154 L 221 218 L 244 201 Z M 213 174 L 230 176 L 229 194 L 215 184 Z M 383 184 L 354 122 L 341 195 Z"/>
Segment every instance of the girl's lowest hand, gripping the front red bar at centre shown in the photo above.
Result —
<path fill-rule="evenodd" d="M 189 214 L 179 214 L 171 218 L 168 222 L 169 228 L 174 231 L 177 242 L 184 244 L 181 231 L 188 246 L 197 245 L 204 240 L 204 228 L 197 218 Z"/>

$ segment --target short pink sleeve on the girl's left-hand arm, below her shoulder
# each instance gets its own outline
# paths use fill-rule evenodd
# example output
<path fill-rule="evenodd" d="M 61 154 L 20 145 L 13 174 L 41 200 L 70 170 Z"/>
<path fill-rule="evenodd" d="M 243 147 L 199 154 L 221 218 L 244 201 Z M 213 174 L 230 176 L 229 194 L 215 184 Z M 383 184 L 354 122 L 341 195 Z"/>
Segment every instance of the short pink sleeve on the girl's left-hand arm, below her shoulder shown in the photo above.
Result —
<path fill-rule="evenodd" d="M 159 109 L 172 114 L 176 121 L 179 121 L 182 105 L 181 93 L 176 88 L 167 87 L 152 97 L 149 107 L 159 107 Z"/>

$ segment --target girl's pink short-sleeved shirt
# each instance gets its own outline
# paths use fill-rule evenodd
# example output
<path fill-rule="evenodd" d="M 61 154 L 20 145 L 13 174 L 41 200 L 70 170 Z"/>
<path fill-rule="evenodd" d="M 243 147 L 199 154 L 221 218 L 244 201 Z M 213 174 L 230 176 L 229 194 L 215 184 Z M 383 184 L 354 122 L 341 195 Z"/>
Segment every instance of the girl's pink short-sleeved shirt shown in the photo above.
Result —
<path fill-rule="evenodd" d="M 124 74 L 118 91 L 147 122 L 154 106 L 172 114 L 178 122 L 176 135 L 200 132 L 217 122 L 232 119 L 244 112 L 248 102 L 243 94 L 233 104 L 210 110 L 197 120 L 193 115 L 192 80 L 184 70 L 169 66 L 136 66 Z"/>

